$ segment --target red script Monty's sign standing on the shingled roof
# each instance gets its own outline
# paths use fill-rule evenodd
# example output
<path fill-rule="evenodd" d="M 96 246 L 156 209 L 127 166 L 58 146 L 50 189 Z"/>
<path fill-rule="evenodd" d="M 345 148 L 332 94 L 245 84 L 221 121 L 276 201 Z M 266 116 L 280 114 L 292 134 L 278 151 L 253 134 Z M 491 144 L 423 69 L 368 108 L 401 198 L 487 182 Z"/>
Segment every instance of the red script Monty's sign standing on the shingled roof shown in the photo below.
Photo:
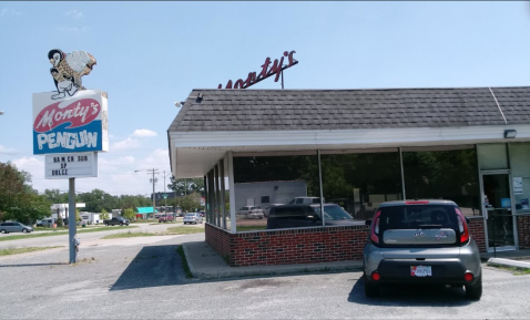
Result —
<path fill-rule="evenodd" d="M 275 59 L 273 65 L 271 65 L 271 58 L 267 56 L 267 59 L 265 59 L 265 63 L 262 65 L 262 72 L 259 74 L 256 74 L 256 72 L 248 73 L 246 80 L 237 80 L 234 84 L 234 87 L 232 87 L 232 80 L 228 80 L 228 83 L 226 83 L 225 89 L 247 89 L 248 86 L 258 83 L 259 81 L 265 80 L 274 74 L 276 74 L 274 82 L 278 82 L 282 71 L 298 63 L 298 61 L 293 58 L 294 53 L 296 53 L 296 51 L 294 50 L 291 52 L 285 51 L 284 56 L 282 56 L 279 61 Z M 289 62 L 286 65 L 284 65 L 284 58 L 287 58 Z M 223 89 L 223 85 L 220 84 L 217 89 Z"/>

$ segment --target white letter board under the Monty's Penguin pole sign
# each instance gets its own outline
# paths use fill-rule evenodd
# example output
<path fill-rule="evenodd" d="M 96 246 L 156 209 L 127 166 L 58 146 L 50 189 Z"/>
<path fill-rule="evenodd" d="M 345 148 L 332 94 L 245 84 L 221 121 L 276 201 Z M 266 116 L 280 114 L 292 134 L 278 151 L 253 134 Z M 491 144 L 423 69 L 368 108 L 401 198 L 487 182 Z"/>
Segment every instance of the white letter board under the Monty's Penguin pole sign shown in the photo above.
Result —
<path fill-rule="evenodd" d="M 98 153 L 47 154 L 47 179 L 88 178 L 98 176 Z"/>

